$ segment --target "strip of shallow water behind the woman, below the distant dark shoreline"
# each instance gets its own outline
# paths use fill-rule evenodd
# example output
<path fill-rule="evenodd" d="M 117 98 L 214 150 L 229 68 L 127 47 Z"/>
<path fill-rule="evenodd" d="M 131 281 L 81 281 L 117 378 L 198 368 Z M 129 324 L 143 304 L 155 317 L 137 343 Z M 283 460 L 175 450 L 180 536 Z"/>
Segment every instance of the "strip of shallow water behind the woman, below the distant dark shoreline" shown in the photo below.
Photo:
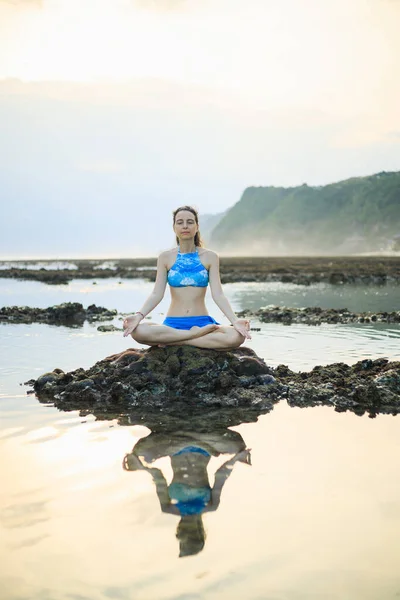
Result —
<path fill-rule="evenodd" d="M 146 267 L 147 268 L 147 267 Z M 45 308 L 60 302 L 104 303 L 107 308 L 133 311 L 152 289 L 153 284 L 143 279 L 76 279 L 66 285 L 46 285 L 36 281 L 0 279 L 2 306 L 29 305 Z M 347 308 L 354 312 L 392 311 L 400 309 L 400 286 L 330 285 L 316 283 L 309 286 L 292 283 L 229 283 L 224 285 L 226 295 L 236 310 L 256 310 L 262 306 L 301 308 Z M 208 290 L 210 312 L 215 310 Z M 169 294 L 160 304 L 168 306 Z M 220 313 L 219 313 L 220 314 Z"/>

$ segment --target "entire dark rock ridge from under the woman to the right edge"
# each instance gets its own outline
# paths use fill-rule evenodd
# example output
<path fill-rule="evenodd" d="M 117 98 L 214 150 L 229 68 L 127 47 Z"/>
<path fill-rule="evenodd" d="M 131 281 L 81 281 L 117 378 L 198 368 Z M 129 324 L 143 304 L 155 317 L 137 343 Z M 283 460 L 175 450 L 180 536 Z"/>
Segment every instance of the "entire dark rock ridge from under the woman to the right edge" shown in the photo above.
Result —
<path fill-rule="evenodd" d="M 352 367 L 337 363 L 294 373 L 284 365 L 271 369 L 246 347 L 131 349 L 87 371 L 56 369 L 29 383 L 40 401 L 62 410 L 119 416 L 151 429 L 165 415 L 172 421 L 198 414 L 207 418 L 220 408 L 232 409 L 221 411 L 221 425 L 251 421 L 283 398 L 292 406 L 327 405 L 372 416 L 400 412 L 398 362 L 364 360 Z"/>

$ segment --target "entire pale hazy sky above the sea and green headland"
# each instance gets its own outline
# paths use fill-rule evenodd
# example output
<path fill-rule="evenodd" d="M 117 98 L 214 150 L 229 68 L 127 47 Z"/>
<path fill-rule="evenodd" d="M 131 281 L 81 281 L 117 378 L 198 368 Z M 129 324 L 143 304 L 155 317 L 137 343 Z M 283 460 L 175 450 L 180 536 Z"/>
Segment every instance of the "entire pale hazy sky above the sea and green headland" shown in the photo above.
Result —
<path fill-rule="evenodd" d="M 400 169 L 399 0 L 0 0 L 0 255 L 154 254 L 174 207 Z"/>

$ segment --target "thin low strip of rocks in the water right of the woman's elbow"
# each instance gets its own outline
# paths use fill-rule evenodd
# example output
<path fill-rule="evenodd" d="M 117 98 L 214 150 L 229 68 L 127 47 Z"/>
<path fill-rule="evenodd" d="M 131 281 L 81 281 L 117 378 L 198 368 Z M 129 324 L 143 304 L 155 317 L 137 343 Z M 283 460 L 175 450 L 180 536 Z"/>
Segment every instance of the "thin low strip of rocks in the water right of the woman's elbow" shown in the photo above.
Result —
<path fill-rule="evenodd" d="M 252 312 L 242 310 L 240 317 L 257 317 L 263 323 L 302 323 L 303 325 L 321 325 L 321 323 L 400 323 L 400 310 L 392 312 L 354 313 L 347 308 L 287 308 L 286 306 L 269 306 Z"/>

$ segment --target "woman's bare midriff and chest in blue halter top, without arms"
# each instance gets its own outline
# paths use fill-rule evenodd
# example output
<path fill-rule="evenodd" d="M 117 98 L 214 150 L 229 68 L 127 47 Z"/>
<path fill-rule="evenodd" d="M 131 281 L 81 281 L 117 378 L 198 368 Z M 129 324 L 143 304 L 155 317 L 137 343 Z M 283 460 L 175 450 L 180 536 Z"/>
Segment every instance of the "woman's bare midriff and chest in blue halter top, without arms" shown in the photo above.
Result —
<path fill-rule="evenodd" d="M 195 256 L 197 254 L 197 256 Z M 205 248 L 197 248 L 196 253 L 181 254 L 175 248 L 168 252 L 166 260 L 166 269 L 169 280 L 178 283 L 178 286 L 170 285 L 171 304 L 167 312 L 168 317 L 192 317 L 208 315 L 205 305 L 205 295 L 207 291 L 205 270 L 209 270 L 210 264 L 207 262 L 208 251 Z M 190 275 L 194 275 L 194 282 L 200 285 L 184 285 L 185 278 L 177 273 L 171 277 L 172 272 L 179 271 L 180 275 L 185 274 L 185 264 L 188 265 L 188 280 Z M 175 267 L 175 269 L 174 269 Z M 176 268 L 177 267 L 177 268 Z M 190 273 L 190 268 L 193 272 Z"/>

